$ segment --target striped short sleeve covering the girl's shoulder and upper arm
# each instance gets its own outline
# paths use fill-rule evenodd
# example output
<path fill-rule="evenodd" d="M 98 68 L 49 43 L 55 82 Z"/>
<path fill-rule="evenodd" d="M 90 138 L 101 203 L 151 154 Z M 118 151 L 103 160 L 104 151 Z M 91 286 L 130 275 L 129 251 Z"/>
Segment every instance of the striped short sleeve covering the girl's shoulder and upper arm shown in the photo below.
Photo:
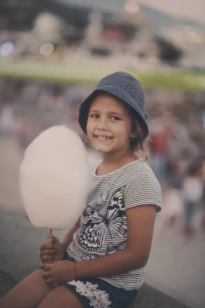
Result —
<path fill-rule="evenodd" d="M 124 190 L 125 209 L 133 206 L 156 205 L 156 213 L 161 210 L 161 188 L 155 175 L 148 169 L 135 172 Z"/>

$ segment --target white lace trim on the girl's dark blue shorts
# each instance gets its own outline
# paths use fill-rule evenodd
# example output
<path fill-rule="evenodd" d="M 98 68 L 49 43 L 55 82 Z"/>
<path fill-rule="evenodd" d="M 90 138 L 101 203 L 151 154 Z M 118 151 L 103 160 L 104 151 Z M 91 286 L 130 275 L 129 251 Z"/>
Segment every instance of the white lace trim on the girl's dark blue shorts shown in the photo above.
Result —
<path fill-rule="evenodd" d="M 112 303 L 108 300 L 109 294 L 105 291 L 97 290 L 98 285 L 92 284 L 91 282 L 83 281 L 70 281 L 67 284 L 74 285 L 76 287 L 76 291 L 79 292 L 80 295 L 84 295 L 90 299 L 90 306 L 94 308 L 109 308 L 109 305 Z"/>

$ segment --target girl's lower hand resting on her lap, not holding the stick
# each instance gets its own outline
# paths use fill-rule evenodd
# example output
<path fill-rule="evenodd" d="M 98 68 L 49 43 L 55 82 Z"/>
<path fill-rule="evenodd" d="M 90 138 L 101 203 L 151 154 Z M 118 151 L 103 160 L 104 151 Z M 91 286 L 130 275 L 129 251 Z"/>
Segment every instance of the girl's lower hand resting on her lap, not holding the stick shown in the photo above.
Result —
<path fill-rule="evenodd" d="M 60 282 L 69 282 L 75 279 L 74 262 L 68 260 L 46 264 L 44 271 L 42 278 L 45 279 L 46 284 L 53 287 Z"/>

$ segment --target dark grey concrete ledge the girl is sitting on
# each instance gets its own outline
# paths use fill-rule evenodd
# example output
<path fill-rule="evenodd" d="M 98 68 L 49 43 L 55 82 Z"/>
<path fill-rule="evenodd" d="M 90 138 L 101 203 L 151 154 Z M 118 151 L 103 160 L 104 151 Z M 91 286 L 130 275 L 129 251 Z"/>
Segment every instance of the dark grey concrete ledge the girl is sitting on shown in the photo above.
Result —
<path fill-rule="evenodd" d="M 40 264 L 38 250 L 48 232 L 34 228 L 24 212 L 0 206 L 0 298 Z M 56 232 L 58 238 L 62 232 Z M 130 308 L 188 308 L 188 306 L 144 283 Z"/>

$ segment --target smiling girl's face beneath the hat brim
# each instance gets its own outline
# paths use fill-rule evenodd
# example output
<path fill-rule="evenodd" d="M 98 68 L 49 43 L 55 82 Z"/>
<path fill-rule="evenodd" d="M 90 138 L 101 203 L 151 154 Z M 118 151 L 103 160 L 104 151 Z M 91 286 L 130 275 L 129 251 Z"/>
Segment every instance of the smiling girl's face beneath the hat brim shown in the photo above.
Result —
<path fill-rule="evenodd" d="M 126 105 L 108 93 L 98 95 L 90 105 L 87 134 L 99 152 L 130 152 L 130 139 L 135 136 Z"/>

